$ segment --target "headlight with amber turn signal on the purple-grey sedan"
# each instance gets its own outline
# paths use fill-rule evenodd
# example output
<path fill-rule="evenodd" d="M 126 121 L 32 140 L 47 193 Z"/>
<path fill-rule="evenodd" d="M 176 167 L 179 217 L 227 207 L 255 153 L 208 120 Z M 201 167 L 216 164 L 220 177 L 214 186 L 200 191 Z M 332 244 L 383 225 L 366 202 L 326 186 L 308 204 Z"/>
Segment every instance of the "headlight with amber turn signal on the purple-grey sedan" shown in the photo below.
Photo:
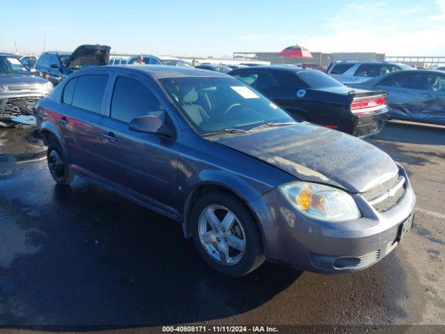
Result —
<path fill-rule="evenodd" d="M 348 221 L 362 216 L 353 198 L 332 186 L 298 181 L 284 184 L 280 190 L 299 212 L 320 221 Z"/>

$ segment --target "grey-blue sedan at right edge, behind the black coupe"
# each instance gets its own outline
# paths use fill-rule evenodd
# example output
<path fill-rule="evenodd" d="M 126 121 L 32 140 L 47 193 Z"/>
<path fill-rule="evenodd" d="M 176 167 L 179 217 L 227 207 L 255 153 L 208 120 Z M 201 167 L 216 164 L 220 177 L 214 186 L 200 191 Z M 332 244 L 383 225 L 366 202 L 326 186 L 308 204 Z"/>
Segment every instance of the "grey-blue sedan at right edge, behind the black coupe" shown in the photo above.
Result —
<path fill-rule="evenodd" d="M 445 73 L 442 71 L 394 72 L 353 86 L 385 90 L 393 119 L 445 125 Z"/>

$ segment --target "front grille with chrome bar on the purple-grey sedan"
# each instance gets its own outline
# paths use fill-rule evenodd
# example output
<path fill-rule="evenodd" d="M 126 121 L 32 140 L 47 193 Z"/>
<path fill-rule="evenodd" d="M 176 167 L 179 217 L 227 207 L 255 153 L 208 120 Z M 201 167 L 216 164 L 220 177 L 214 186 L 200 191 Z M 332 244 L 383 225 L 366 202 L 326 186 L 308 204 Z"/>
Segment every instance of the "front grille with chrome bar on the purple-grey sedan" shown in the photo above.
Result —
<path fill-rule="evenodd" d="M 405 177 L 395 175 L 380 186 L 362 193 L 362 196 L 378 212 L 386 212 L 394 207 L 405 195 Z"/>

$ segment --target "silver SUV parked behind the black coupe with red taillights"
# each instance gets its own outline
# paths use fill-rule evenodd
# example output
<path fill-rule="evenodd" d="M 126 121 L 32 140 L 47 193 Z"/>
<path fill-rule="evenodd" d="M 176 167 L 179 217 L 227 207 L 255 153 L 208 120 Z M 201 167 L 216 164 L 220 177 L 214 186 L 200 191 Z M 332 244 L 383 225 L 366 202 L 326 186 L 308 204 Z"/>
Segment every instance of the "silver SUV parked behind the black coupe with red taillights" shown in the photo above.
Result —
<path fill-rule="evenodd" d="M 400 70 L 412 70 L 412 67 L 386 61 L 334 61 L 327 67 L 326 73 L 343 84 L 355 84 Z"/>

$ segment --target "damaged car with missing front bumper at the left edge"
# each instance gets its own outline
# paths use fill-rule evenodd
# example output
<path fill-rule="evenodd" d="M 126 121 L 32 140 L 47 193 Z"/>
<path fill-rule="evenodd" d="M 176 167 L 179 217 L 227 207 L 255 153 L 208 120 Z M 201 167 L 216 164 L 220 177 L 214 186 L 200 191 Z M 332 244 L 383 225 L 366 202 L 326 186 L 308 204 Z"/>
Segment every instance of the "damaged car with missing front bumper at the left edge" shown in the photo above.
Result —
<path fill-rule="evenodd" d="M 15 56 L 0 54 L 0 125 L 9 126 L 15 116 L 32 115 L 35 101 L 53 85 L 35 77 Z"/>

